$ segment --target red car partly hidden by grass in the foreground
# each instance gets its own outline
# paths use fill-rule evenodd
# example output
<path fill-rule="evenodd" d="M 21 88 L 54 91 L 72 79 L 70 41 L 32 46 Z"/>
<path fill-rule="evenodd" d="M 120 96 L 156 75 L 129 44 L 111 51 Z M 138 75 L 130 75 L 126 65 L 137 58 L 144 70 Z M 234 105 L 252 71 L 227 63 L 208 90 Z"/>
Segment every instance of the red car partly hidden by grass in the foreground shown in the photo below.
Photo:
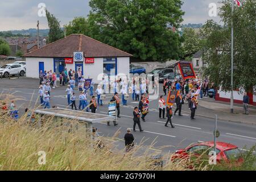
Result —
<path fill-rule="evenodd" d="M 209 154 L 210 151 L 213 150 L 214 142 L 202 142 L 202 143 L 196 143 L 192 144 L 191 146 L 188 146 L 187 148 L 177 150 L 175 151 L 175 154 L 172 156 L 172 160 L 174 159 L 189 159 L 189 156 L 195 155 L 200 156 L 202 154 L 202 151 L 205 152 L 206 155 Z M 212 148 L 212 149 L 209 149 Z M 216 142 L 216 160 L 217 162 L 220 162 L 221 160 L 228 161 L 230 158 L 234 157 L 236 158 L 238 155 L 241 154 L 240 150 L 237 146 L 234 146 L 230 143 L 225 142 Z M 241 163 L 242 160 L 238 159 L 238 162 Z"/>

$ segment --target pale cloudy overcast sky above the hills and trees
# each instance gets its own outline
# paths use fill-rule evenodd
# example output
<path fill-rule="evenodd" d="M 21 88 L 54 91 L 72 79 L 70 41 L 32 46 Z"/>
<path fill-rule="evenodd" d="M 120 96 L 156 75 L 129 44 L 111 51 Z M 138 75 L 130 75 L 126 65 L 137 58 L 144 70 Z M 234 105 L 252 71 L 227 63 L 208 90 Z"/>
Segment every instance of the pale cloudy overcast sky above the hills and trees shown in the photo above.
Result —
<path fill-rule="evenodd" d="M 184 22 L 204 23 L 207 19 L 220 22 L 218 17 L 210 17 L 209 3 L 220 0 L 183 0 L 185 11 Z M 60 20 L 61 26 L 70 22 L 75 16 L 86 16 L 90 11 L 89 0 L 0 0 L 0 31 L 36 28 L 39 20 L 40 28 L 48 28 L 46 17 L 38 16 L 39 3 L 45 3 L 46 8 Z"/>

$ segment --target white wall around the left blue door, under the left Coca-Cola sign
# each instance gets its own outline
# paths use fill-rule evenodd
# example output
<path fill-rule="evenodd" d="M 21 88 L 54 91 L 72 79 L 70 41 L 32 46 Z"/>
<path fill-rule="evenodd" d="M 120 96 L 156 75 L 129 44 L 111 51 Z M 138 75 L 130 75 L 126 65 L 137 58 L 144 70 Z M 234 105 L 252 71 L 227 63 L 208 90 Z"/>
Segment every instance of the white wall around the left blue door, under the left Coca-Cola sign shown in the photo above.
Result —
<path fill-rule="evenodd" d="M 53 71 L 53 58 L 48 57 L 26 57 L 26 76 L 39 78 L 39 62 L 44 62 L 44 70 Z"/>

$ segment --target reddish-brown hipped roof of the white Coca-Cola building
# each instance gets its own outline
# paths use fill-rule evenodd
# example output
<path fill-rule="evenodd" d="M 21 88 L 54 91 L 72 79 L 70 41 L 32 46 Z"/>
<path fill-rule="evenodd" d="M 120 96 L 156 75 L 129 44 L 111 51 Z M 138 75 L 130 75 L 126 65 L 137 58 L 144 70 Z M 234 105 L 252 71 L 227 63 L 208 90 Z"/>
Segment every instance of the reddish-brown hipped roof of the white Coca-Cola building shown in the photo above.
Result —
<path fill-rule="evenodd" d="M 23 57 L 73 57 L 73 52 L 84 51 L 85 57 L 131 57 L 130 53 L 108 46 L 82 34 L 71 34 L 56 42 L 26 53 Z"/>

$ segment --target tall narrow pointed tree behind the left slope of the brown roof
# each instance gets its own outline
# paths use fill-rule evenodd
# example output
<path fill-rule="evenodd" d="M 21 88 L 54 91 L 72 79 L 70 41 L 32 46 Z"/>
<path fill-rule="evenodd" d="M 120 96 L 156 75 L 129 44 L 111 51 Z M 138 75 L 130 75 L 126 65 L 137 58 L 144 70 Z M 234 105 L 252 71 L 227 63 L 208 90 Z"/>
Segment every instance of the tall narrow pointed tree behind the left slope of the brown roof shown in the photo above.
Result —
<path fill-rule="evenodd" d="M 60 28 L 60 22 L 58 19 L 50 14 L 48 10 L 46 10 L 46 17 L 48 21 L 49 34 L 48 34 L 48 43 L 55 42 L 56 40 L 64 38 L 64 32 Z"/>

